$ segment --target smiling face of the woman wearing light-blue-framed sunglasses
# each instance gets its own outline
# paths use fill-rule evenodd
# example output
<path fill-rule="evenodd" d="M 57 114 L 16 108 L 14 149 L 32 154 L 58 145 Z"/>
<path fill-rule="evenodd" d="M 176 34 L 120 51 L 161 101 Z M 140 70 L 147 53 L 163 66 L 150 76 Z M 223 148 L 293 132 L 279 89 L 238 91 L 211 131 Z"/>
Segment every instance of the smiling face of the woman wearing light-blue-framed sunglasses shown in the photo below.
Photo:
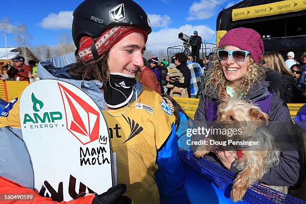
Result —
<path fill-rule="evenodd" d="M 235 46 L 225 46 L 224 50 L 233 51 L 241 50 Z M 226 61 L 220 61 L 222 71 L 225 75 L 229 84 L 235 85 L 238 82 L 243 74 L 247 71 L 247 63 L 249 62 L 249 56 L 243 62 L 235 62 L 230 55 Z"/>

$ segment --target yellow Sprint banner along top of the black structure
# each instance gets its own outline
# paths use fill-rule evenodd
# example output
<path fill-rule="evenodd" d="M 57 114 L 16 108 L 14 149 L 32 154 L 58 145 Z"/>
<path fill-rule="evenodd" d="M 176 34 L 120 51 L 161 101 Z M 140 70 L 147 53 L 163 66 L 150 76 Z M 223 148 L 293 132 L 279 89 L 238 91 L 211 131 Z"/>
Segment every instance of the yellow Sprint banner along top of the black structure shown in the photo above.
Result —
<path fill-rule="evenodd" d="M 232 21 L 251 19 L 306 10 L 306 0 L 286 0 L 270 4 L 233 9 Z"/>

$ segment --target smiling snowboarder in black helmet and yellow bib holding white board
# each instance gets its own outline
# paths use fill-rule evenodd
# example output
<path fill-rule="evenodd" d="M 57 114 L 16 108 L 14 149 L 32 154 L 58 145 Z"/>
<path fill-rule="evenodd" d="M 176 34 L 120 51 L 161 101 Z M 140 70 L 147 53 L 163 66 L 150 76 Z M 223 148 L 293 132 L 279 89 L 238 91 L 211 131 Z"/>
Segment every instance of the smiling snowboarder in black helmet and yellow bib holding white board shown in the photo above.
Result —
<path fill-rule="evenodd" d="M 122 3 L 125 18 L 115 19 L 118 23 L 114 23 L 109 11 Z M 92 21 L 92 14 L 103 19 L 103 24 Z M 131 0 L 86 0 L 73 12 L 76 51 L 40 62 L 38 76 L 79 87 L 99 106 L 109 127 L 121 127 L 117 129 L 120 137 L 110 138 L 116 161 L 113 169 L 117 182 L 126 184 L 126 191 L 121 191 L 133 203 L 187 203 L 183 169 L 177 154 L 173 154 L 177 152 L 175 117 L 158 93 L 135 81 L 136 71 L 143 67 L 142 53 L 151 33 L 148 22 L 143 9 Z M 150 109 L 136 108 L 139 104 Z M 7 117 L 0 117 L 0 141 L 5 146 L 0 154 L 0 166 L 5 166 L 0 171 L 0 193 L 33 193 L 35 200 L 51 203 L 50 198 L 40 197 L 33 190 L 34 172 L 26 144 L 20 140 L 18 107 L 13 105 Z M 126 118 L 139 127 L 133 137 Z M 10 145 L 13 140 L 19 145 Z M 7 160 L 6 155 L 15 158 Z M 108 193 L 102 195 L 105 194 L 111 197 Z M 116 203 L 106 198 L 85 196 L 74 203 Z"/>

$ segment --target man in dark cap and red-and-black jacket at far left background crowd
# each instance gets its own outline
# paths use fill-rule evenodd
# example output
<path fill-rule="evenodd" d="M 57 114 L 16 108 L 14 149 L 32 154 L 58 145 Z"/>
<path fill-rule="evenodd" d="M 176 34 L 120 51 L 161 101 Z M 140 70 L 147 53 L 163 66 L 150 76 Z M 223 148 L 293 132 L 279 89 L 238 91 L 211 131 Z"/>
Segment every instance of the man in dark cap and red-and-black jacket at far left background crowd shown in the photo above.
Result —
<path fill-rule="evenodd" d="M 17 56 L 12 59 L 13 66 L 7 72 L 8 76 L 14 76 L 15 81 L 28 81 L 28 73 L 32 73 L 32 69 L 28 65 L 24 65 L 24 58 Z"/>

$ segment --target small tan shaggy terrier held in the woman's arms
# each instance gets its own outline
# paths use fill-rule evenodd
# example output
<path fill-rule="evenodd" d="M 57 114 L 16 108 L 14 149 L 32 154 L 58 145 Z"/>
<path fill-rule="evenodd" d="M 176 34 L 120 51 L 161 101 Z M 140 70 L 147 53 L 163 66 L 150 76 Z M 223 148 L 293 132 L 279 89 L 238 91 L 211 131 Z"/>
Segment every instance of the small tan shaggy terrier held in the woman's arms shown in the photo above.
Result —
<path fill-rule="evenodd" d="M 257 106 L 246 101 L 232 98 L 222 88 L 219 91 L 217 120 L 213 126 L 222 128 L 241 128 L 241 134 L 228 138 L 227 135 L 208 135 L 205 140 L 258 141 L 258 145 L 232 146 L 230 154 L 235 158 L 233 165 L 239 170 L 233 181 L 231 199 L 242 200 L 246 189 L 257 183 L 268 169 L 277 164 L 280 152 L 274 142 L 273 136 L 267 131 L 268 116 Z M 225 138 L 226 137 L 226 138 Z M 215 145 L 201 145 L 194 155 L 203 157 L 209 151 L 214 153 L 222 151 Z M 221 149 L 221 150 L 220 150 Z M 287 193 L 287 186 L 269 186 L 273 189 Z"/>

